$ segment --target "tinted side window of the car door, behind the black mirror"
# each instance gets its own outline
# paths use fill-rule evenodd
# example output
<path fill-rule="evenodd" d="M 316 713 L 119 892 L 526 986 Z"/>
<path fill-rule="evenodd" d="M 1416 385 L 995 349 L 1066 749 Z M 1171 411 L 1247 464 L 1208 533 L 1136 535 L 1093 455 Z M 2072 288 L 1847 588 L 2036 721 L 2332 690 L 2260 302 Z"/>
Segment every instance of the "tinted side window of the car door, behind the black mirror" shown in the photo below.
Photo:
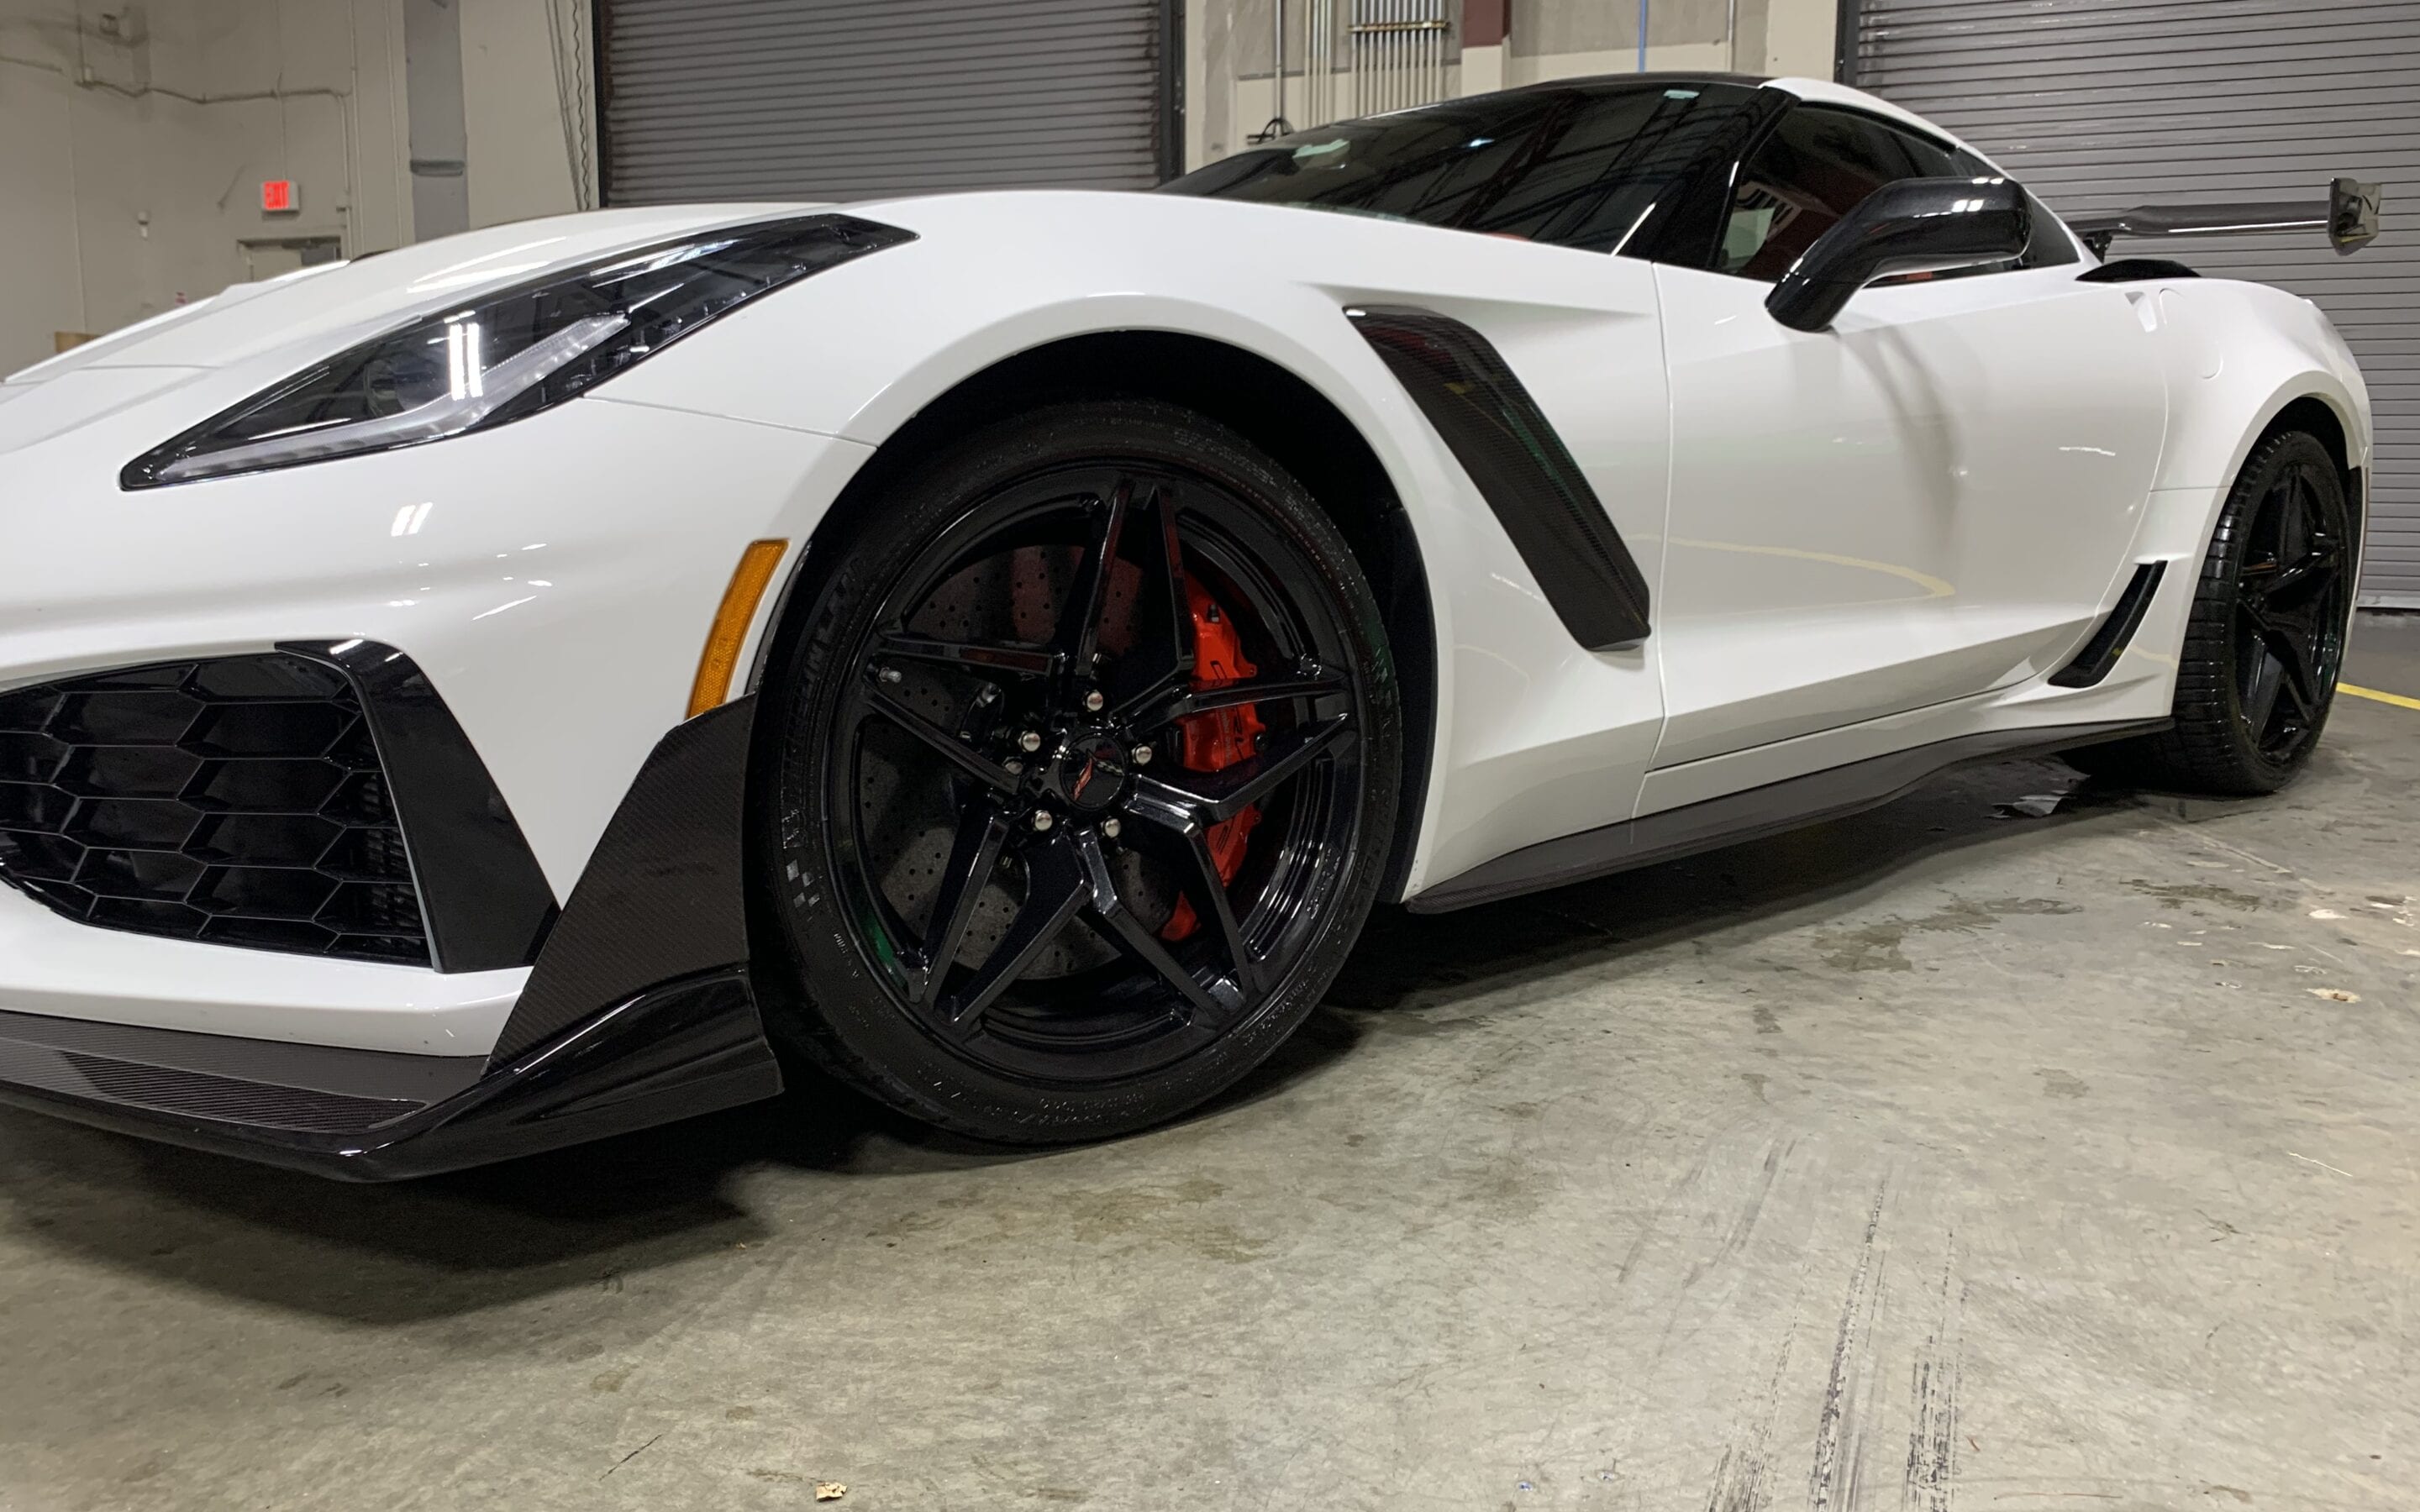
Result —
<path fill-rule="evenodd" d="M 1815 244 L 1815 237 L 1839 225 L 1842 215 L 1883 184 L 1987 174 L 1994 169 L 1982 157 L 1873 116 L 1798 106 L 1740 167 L 1713 266 L 1774 283 Z M 2035 235 L 2026 256 L 1965 273 L 2076 261 L 2074 247 L 2040 201 L 2033 203 L 2033 218 Z M 1917 273 L 1917 278 L 1946 276 Z"/>

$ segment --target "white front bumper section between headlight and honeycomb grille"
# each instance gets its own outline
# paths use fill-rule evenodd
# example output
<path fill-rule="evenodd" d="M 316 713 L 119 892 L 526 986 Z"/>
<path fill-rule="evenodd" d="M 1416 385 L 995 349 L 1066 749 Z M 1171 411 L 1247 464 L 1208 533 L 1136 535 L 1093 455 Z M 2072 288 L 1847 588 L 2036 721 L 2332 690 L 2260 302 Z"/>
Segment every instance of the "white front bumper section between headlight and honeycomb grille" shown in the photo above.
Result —
<path fill-rule="evenodd" d="M 738 549 L 803 539 L 869 455 L 595 397 L 443 445 L 174 489 L 123 494 L 114 467 L 90 467 L 94 448 L 123 462 L 191 423 L 172 404 L 0 457 L 7 496 L 41 501 L 10 508 L 7 552 L 46 564 L 0 578 L 0 687 L 278 641 L 399 646 L 557 898 L 680 723 Z M 0 409 L 0 428 L 29 406 Z"/>

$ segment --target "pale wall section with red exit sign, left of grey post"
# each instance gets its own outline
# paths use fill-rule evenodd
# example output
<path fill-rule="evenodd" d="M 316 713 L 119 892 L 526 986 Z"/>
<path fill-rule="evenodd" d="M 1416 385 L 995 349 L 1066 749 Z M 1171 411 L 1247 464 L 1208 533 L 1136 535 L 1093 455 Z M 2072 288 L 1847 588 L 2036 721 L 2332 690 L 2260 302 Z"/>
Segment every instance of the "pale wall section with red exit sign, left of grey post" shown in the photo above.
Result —
<path fill-rule="evenodd" d="M 392 131 L 358 119 L 402 68 L 382 2 L 0 0 L 0 370 L 215 293 L 247 237 L 399 242 L 394 174 L 363 174 Z"/>

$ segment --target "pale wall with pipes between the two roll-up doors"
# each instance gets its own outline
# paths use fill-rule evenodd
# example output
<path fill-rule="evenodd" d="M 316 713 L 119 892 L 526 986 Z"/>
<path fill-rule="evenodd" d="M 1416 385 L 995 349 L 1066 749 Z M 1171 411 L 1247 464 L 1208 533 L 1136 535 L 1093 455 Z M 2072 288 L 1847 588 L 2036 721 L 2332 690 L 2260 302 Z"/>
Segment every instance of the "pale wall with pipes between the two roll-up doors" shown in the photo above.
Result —
<path fill-rule="evenodd" d="M 1287 2 L 1287 34 L 1302 34 L 1304 0 Z M 1186 165 L 1215 162 L 1244 145 L 1273 114 L 1270 7 L 1275 0 L 1191 0 L 1186 7 Z M 1353 0 L 1333 0 L 1338 15 Z M 1638 0 L 1452 0 L 1476 24 L 1457 48 L 1447 94 L 1479 94 L 1539 80 L 1636 73 Z M 1488 17 L 1488 19 L 1479 19 Z M 1757 75 L 1832 77 L 1839 0 L 1648 0 L 1646 65 Z M 1735 34 L 1730 34 L 1735 24 Z M 1302 99 L 1300 44 L 1287 44 L 1290 116 Z M 1350 92 L 1346 92 L 1350 106 Z M 1309 121 L 1295 121 L 1307 126 Z"/>

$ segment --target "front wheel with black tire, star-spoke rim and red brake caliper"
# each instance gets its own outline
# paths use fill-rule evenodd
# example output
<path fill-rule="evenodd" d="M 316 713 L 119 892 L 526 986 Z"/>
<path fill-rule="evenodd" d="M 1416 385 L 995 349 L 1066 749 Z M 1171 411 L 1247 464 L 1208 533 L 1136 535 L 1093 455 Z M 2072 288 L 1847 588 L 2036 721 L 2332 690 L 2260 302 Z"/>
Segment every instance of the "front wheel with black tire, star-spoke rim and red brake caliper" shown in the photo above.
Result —
<path fill-rule="evenodd" d="M 1019 1144 L 1232 1086 L 1319 1004 L 1394 830 L 1401 704 L 1343 535 L 1150 402 L 968 435 L 837 527 L 760 714 L 777 1038 Z M 1198 709 L 1234 702 L 1212 651 L 1256 731 Z"/>

